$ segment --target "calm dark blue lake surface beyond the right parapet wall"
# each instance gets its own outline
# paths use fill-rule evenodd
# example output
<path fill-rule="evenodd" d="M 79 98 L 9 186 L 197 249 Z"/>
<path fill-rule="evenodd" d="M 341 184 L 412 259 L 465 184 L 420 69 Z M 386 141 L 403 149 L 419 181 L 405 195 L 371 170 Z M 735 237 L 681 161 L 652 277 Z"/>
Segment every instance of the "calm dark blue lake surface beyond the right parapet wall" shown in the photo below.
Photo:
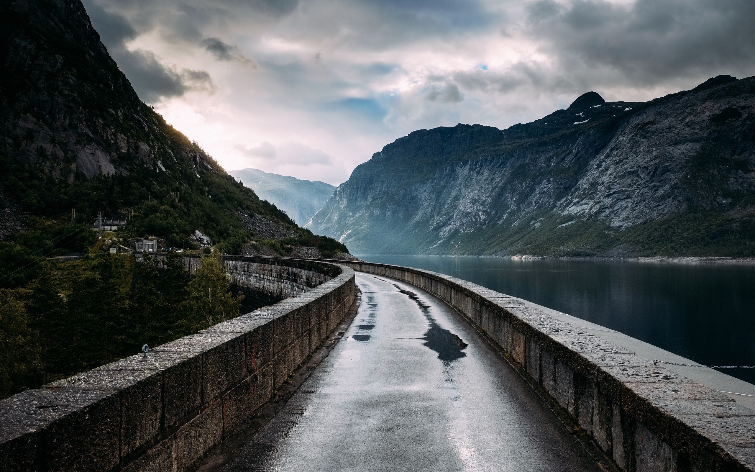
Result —
<path fill-rule="evenodd" d="M 707 365 L 755 365 L 755 266 L 362 255 L 433 270 Z M 755 369 L 722 369 L 755 384 Z"/>

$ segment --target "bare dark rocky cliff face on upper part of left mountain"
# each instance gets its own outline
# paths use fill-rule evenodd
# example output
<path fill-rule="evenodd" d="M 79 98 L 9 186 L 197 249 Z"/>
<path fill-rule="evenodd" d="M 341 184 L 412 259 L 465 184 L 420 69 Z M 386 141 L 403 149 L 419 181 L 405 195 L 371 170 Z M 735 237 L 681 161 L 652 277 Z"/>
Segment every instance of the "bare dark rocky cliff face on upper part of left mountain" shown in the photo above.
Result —
<path fill-rule="evenodd" d="M 2 2 L 2 17 L 3 153 L 69 181 L 157 170 L 178 157 L 212 167 L 165 136 L 165 122 L 139 100 L 80 2 Z"/>

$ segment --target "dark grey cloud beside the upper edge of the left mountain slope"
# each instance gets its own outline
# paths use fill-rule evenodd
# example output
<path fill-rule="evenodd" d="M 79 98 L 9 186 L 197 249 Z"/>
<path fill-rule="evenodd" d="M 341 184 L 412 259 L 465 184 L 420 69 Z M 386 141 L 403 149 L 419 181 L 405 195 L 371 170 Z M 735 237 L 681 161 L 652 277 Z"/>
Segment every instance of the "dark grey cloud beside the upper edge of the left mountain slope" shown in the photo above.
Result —
<path fill-rule="evenodd" d="M 164 66 L 149 51 L 129 51 L 126 43 L 137 37 L 131 24 L 92 2 L 86 1 L 85 7 L 92 26 L 100 32 L 100 38 L 113 60 L 145 102 L 156 103 L 164 97 L 178 97 L 191 88 L 212 87 L 210 76 L 205 71 L 183 69 L 177 72 Z"/>

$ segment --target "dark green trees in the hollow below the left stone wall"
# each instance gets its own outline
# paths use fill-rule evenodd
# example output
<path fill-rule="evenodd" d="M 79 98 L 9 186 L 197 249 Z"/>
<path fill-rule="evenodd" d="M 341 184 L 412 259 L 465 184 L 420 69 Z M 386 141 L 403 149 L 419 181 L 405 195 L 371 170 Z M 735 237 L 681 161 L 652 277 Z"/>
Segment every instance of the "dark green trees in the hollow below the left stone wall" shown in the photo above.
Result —
<path fill-rule="evenodd" d="M 42 262 L 27 288 L 0 288 L 0 398 L 239 315 L 243 295 L 217 251 L 190 279 L 173 251 L 159 267 L 97 245 L 79 261 Z"/>

